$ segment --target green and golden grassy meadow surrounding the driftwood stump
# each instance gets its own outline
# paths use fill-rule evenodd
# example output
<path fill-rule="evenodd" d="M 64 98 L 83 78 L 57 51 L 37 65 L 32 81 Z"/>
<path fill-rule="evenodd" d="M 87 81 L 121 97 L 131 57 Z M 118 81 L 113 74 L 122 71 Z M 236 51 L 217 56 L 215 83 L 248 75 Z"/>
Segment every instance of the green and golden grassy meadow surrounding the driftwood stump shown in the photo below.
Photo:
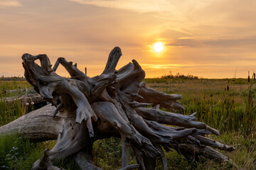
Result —
<path fill-rule="evenodd" d="M 167 94 L 182 94 L 180 100 L 186 111 L 196 112 L 198 120 L 220 130 L 220 136 L 210 135 L 216 141 L 233 145 L 235 151 L 226 154 L 236 165 L 218 164 L 201 159 L 189 165 L 177 152 L 166 154 L 169 169 L 256 169 L 256 81 L 254 79 L 145 79 L 147 86 Z M 31 93 L 26 81 L 0 81 L 0 126 L 33 110 L 34 106 L 11 105 L 4 102 L 8 96 Z M 53 147 L 55 141 L 34 142 L 18 135 L 0 137 L 0 169 L 31 169 L 33 162 L 41 157 L 43 149 Z M 118 169 L 121 166 L 121 142 L 110 138 L 94 144 L 95 164 L 102 169 Z M 130 163 L 136 163 L 131 150 Z M 157 169 L 161 169 L 159 161 Z M 65 169 L 79 169 L 73 158 L 61 162 Z"/>

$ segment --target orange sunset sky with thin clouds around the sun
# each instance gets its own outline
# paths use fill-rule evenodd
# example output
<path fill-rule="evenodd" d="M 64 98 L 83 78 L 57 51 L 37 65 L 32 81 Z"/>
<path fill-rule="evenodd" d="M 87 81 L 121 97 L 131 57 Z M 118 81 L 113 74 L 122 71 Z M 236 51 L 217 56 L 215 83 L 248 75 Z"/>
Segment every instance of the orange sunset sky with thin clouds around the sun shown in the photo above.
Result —
<path fill-rule="evenodd" d="M 92 77 L 119 46 L 117 69 L 135 59 L 148 78 L 247 77 L 256 71 L 255 8 L 255 0 L 0 0 L 0 76 L 22 77 L 30 53 L 78 62 Z"/>

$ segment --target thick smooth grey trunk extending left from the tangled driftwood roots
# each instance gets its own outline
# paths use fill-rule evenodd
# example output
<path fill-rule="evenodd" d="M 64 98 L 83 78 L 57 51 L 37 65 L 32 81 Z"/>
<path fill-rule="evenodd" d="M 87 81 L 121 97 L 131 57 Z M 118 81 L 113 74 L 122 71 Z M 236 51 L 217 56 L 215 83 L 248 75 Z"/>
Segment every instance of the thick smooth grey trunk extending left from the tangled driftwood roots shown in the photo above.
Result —
<path fill-rule="evenodd" d="M 54 106 L 44 106 L 0 127 L 0 135 L 18 133 L 35 140 L 56 140 L 64 117 L 53 118 Z"/>

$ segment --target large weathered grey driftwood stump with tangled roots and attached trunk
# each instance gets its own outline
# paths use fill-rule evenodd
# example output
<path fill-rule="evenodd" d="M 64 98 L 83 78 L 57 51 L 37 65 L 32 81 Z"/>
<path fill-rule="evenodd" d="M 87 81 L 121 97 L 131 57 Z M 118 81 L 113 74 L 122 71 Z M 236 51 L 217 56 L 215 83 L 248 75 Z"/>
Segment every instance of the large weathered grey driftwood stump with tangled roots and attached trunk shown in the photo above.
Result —
<path fill-rule="evenodd" d="M 176 109 L 185 109 L 177 101 L 181 95 L 146 87 L 142 82 L 145 72 L 136 60 L 116 70 L 121 55 L 120 48 L 114 47 L 105 70 L 92 78 L 81 72 L 77 64 L 59 58 L 58 62 L 71 77 L 65 78 L 53 71 L 47 55 L 24 54 L 27 81 L 53 106 L 45 106 L 2 126 L 0 134 L 16 131 L 38 140 L 57 138 L 53 149 L 46 149 L 33 169 L 58 169 L 53 162 L 73 154 L 81 169 L 99 169 L 92 162 L 92 144 L 107 137 L 122 140 L 122 169 L 155 169 L 157 157 L 161 157 L 164 169 L 168 169 L 163 149 L 176 149 L 188 161 L 203 156 L 230 162 L 213 148 L 225 151 L 235 148 L 205 137 L 219 135 L 218 130 L 196 121 L 196 113 L 175 113 Z M 35 60 L 40 60 L 41 66 Z M 173 113 L 161 111 L 159 107 Z M 129 147 L 138 164 L 128 165 Z"/>

